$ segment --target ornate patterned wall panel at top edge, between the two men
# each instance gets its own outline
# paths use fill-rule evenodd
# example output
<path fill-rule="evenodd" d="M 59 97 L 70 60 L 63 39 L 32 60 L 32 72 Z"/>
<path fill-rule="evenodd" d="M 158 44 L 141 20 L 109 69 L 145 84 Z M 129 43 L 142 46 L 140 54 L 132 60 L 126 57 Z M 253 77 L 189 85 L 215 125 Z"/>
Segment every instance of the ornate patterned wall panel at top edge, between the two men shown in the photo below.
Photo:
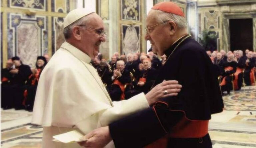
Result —
<path fill-rule="evenodd" d="M 128 21 L 140 21 L 140 0 L 121 0 L 121 18 Z"/>

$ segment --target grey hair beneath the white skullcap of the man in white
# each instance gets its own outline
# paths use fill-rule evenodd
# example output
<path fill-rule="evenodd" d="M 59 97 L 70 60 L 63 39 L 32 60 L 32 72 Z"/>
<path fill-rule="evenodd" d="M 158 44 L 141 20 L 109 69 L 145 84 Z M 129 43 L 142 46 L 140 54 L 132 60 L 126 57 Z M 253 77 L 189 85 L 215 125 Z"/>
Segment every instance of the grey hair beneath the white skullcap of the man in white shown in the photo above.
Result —
<path fill-rule="evenodd" d="M 65 39 L 68 39 L 68 38 L 71 37 L 72 30 L 73 30 L 74 26 L 88 24 L 91 21 L 92 18 L 93 18 L 93 15 L 89 14 L 87 16 L 84 16 L 84 17 L 76 20 L 75 22 L 73 22 L 72 24 L 68 25 L 67 27 L 65 27 L 64 30 L 63 30 L 63 34 L 64 34 Z"/>

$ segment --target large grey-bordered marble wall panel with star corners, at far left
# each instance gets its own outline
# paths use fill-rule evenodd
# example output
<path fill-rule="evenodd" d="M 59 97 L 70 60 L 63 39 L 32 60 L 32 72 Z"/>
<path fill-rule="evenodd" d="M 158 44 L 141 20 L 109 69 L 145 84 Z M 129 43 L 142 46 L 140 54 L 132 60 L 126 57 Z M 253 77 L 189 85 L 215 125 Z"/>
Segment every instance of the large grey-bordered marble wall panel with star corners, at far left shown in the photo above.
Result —
<path fill-rule="evenodd" d="M 8 14 L 8 58 L 20 56 L 22 62 L 34 66 L 38 55 L 48 52 L 47 17 Z"/>

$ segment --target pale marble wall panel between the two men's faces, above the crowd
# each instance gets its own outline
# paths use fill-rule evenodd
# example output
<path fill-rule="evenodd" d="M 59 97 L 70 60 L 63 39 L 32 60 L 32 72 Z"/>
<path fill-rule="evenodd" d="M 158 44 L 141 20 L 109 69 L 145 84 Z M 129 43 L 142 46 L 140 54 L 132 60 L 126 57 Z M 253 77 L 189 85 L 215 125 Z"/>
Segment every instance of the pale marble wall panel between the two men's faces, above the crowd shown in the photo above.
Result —
<path fill-rule="evenodd" d="M 140 26 L 122 25 L 121 54 L 140 52 Z"/>

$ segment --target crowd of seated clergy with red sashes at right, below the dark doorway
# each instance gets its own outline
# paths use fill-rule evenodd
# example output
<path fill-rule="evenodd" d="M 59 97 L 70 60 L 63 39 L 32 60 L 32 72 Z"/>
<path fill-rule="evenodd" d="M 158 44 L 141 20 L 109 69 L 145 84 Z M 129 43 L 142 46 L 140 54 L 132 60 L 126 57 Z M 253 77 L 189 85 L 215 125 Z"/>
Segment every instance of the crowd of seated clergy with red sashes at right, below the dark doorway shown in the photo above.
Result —
<path fill-rule="evenodd" d="M 249 49 L 245 53 L 242 50 L 206 52 L 214 64 L 222 93 L 230 94 L 230 91 L 240 90 L 242 86 L 255 85 L 256 52 Z"/>

